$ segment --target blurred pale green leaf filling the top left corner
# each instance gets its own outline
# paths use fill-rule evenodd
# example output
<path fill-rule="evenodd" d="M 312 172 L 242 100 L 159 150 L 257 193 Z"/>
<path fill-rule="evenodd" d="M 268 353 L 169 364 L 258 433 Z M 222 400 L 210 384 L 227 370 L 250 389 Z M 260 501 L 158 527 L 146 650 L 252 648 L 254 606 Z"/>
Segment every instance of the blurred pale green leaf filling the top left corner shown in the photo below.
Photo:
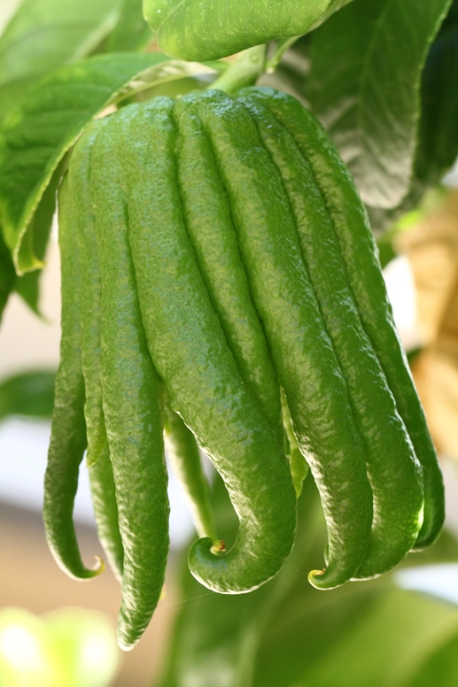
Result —
<path fill-rule="evenodd" d="M 35 81 L 95 50 L 119 6 L 120 0 L 24 0 L 0 37 L 0 121 Z"/>

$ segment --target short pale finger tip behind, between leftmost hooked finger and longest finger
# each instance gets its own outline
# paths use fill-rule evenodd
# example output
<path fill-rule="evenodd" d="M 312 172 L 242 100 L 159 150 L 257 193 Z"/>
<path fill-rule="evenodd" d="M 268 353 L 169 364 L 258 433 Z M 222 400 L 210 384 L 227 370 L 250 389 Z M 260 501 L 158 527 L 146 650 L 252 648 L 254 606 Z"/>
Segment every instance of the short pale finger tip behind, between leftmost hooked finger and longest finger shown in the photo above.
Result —
<path fill-rule="evenodd" d="M 105 442 L 106 443 L 106 442 Z M 88 468 L 92 506 L 97 524 L 97 536 L 102 544 L 106 560 L 119 583 L 122 583 L 124 547 L 120 538 L 118 504 L 114 486 L 113 467 L 108 446 L 97 462 Z"/>

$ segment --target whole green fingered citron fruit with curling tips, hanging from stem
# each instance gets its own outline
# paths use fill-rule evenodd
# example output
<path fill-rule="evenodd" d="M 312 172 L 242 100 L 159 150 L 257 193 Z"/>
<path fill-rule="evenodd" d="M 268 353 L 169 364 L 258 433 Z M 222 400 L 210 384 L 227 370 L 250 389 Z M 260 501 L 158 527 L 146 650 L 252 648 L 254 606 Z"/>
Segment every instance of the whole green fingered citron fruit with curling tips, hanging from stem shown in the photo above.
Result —
<path fill-rule="evenodd" d="M 206 90 L 95 121 L 70 160 L 60 222 L 46 528 L 61 567 L 95 574 L 72 522 L 87 434 L 123 648 L 164 582 L 164 431 L 201 535 L 190 570 L 210 590 L 252 591 L 283 566 L 307 475 L 300 456 L 328 529 L 315 587 L 381 575 L 434 541 L 442 477 L 366 214 L 294 98 Z M 214 538 L 198 446 L 239 519 L 227 547 Z"/>

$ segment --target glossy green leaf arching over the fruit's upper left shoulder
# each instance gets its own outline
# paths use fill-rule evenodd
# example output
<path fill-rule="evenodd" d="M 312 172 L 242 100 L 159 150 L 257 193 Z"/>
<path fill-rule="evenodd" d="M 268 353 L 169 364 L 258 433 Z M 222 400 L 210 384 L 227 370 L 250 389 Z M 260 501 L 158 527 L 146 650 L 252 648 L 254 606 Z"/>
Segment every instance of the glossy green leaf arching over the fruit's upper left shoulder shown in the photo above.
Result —
<path fill-rule="evenodd" d="M 0 135 L 0 213 L 19 274 L 42 266 L 32 220 L 59 161 L 89 121 L 114 98 L 127 96 L 133 80 L 142 89 L 209 71 L 166 60 L 158 53 L 120 53 L 61 67 L 9 114 Z"/>

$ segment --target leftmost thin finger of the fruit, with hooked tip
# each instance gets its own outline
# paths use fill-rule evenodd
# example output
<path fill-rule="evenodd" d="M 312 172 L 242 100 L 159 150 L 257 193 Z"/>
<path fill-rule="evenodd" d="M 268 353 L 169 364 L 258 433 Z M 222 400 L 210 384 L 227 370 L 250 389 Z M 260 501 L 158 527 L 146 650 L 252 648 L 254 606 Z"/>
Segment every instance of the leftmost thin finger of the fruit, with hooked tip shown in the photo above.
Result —
<path fill-rule="evenodd" d="M 58 566 L 78 580 L 102 572 L 84 567 L 74 530 L 74 497 L 86 450 L 84 380 L 80 325 L 80 256 L 77 212 L 69 193 L 68 175 L 59 190 L 59 247 L 62 270 L 62 336 L 56 377 L 48 466 L 44 477 L 43 520 L 46 538 Z"/>

